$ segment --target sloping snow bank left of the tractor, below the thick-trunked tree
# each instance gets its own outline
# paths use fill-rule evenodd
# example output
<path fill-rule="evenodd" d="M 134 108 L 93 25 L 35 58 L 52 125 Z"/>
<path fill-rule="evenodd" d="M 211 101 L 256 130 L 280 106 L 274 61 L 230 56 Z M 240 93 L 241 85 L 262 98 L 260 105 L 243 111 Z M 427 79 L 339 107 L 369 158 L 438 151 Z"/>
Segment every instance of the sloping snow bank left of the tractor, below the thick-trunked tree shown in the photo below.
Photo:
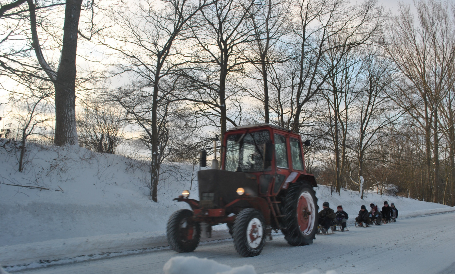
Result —
<path fill-rule="evenodd" d="M 198 170 L 185 164 L 163 165 L 155 203 L 148 198 L 147 162 L 74 146 L 34 144 L 27 147 L 24 172 L 17 171 L 17 159 L 0 147 L 0 246 L 163 231 L 172 212 L 189 208 L 172 199 L 190 189 Z M 192 189 L 197 189 L 197 180 Z"/>

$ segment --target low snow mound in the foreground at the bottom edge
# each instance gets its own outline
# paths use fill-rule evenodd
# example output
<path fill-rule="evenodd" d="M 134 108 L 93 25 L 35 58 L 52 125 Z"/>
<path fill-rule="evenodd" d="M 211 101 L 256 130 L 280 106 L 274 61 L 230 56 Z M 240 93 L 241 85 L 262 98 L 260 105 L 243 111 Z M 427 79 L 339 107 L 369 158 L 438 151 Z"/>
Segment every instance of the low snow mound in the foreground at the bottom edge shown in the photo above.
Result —
<path fill-rule="evenodd" d="M 253 265 L 245 264 L 232 268 L 211 259 L 199 259 L 195 256 L 173 257 L 164 264 L 163 271 L 164 274 L 256 274 Z M 314 269 L 304 274 L 319 274 L 319 271 Z M 336 274 L 336 272 L 329 270 L 326 274 Z"/>

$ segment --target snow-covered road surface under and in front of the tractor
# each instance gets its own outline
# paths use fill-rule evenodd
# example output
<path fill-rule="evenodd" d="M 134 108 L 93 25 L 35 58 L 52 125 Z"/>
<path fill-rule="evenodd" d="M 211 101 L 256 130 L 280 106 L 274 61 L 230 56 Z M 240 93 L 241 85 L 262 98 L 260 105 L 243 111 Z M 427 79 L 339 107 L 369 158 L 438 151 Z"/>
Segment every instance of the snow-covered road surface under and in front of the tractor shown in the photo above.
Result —
<path fill-rule="evenodd" d="M 214 259 L 232 267 L 251 264 L 257 273 L 422 273 L 455 274 L 455 213 L 398 219 L 397 223 L 317 236 L 314 244 L 291 247 L 283 236 L 268 241 L 261 255 L 240 257 L 232 240 L 199 246 L 195 252 L 172 250 L 50 266 L 14 273 L 27 274 L 162 274 L 177 255 Z"/>

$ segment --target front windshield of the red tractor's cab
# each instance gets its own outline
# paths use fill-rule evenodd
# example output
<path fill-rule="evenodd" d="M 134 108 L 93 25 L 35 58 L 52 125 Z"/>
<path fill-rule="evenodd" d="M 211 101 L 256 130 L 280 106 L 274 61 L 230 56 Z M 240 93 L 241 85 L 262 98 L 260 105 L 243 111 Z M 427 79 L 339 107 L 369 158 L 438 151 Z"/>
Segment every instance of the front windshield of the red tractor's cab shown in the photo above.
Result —
<path fill-rule="evenodd" d="M 264 161 L 264 146 L 270 142 L 268 130 L 227 135 L 226 141 L 226 170 L 270 170 L 270 161 Z"/>

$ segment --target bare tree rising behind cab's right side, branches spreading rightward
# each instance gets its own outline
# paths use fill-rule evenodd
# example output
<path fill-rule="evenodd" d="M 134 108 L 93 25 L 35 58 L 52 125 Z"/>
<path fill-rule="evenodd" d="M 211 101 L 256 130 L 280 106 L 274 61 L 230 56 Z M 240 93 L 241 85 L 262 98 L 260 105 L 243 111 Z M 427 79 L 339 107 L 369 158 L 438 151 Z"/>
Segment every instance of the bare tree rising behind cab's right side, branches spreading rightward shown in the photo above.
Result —
<path fill-rule="evenodd" d="M 296 78 L 293 96 L 294 113 L 292 129 L 299 131 L 303 105 L 319 93 L 332 70 L 321 72 L 324 56 L 330 50 L 338 50 L 335 69 L 352 49 L 373 40 L 385 17 L 376 1 L 365 1 L 349 6 L 344 0 L 296 1 L 293 3 L 296 23 L 293 44 L 296 49 Z M 337 36 L 334 43 L 333 36 Z"/>

